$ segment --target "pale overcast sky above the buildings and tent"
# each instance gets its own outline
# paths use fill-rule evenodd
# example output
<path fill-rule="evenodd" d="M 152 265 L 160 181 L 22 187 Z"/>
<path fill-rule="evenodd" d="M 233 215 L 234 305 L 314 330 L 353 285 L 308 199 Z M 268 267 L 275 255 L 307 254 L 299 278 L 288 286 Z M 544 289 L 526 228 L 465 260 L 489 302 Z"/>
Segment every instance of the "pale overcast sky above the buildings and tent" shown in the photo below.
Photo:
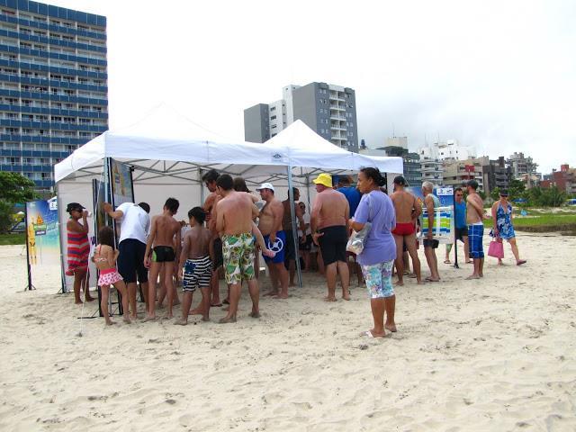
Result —
<path fill-rule="evenodd" d="M 243 139 L 244 108 L 324 81 L 356 89 L 368 147 L 394 131 L 576 165 L 571 0 L 49 3 L 107 16 L 112 129 L 164 102 Z"/>

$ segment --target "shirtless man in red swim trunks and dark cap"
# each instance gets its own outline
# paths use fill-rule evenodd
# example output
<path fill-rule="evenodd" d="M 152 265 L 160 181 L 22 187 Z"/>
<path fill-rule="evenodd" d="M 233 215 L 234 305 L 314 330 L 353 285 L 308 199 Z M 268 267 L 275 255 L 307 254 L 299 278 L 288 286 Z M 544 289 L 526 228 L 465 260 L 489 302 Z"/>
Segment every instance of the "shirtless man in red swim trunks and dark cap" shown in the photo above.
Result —
<path fill-rule="evenodd" d="M 404 243 L 408 248 L 408 253 L 412 258 L 416 280 L 422 284 L 422 275 L 420 274 L 420 260 L 416 247 L 416 220 L 422 212 L 422 207 L 416 200 L 416 197 L 404 190 L 407 183 L 403 176 L 398 175 L 394 178 L 394 193 L 392 193 L 392 203 L 396 211 L 396 228 L 392 229 L 394 241 L 396 242 L 396 274 L 398 275 L 398 284 L 404 284 L 404 259 L 402 249 Z"/>

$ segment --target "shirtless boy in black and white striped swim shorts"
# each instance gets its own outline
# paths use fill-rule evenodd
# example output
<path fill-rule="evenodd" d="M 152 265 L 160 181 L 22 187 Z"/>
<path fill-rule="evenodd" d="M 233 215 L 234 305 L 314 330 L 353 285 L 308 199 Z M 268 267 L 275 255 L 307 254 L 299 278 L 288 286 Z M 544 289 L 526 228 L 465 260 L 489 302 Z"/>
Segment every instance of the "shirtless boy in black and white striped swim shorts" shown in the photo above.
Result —
<path fill-rule="evenodd" d="M 194 207 L 188 211 L 190 227 L 184 234 L 184 247 L 180 255 L 180 267 L 184 267 L 178 277 L 183 281 L 182 291 L 182 319 L 175 321 L 175 325 L 185 326 L 188 324 L 188 314 L 192 306 L 192 296 L 196 288 L 200 288 L 202 302 L 198 309 L 202 311 L 202 321 L 209 321 L 210 315 L 210 281 L 212 275 L 213 250 L 211 232 L 204 227 L 206 213 L 201 207 Z"/>

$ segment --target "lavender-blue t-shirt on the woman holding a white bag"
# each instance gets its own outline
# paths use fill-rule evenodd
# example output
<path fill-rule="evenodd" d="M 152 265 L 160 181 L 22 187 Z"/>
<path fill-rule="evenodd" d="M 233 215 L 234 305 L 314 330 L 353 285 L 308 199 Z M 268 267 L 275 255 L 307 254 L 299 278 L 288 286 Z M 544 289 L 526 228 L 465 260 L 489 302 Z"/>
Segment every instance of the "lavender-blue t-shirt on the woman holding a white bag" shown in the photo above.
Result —
<path fill-rule="evenodd" d="M 364 250 L 357 257 L 359 264 L 373 266 L 396 258 L 396 242 L 390 232 L 396 226 L 396 211 L 386 193 L 372 191 L 363 195 L 354 220 L 358 223 L 372 223 Z"/>

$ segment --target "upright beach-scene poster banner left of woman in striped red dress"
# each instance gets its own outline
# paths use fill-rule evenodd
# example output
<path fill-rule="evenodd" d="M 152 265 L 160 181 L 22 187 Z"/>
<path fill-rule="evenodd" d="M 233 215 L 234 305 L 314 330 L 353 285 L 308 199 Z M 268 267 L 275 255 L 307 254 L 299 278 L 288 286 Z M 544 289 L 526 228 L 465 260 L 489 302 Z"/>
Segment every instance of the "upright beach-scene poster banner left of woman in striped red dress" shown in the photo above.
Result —
<path fill-rule="evenodd" d="M 63 273 L 60 266 L 60 227 L 56 197 L 26 202 L 25 222 L 30 272 L 28 288 L 31 289 L 32 285 L 37 288 L 52 287 L 55 284 L 61 287 Z M 49 275 L 58 276 L 52 280 Z"/>

